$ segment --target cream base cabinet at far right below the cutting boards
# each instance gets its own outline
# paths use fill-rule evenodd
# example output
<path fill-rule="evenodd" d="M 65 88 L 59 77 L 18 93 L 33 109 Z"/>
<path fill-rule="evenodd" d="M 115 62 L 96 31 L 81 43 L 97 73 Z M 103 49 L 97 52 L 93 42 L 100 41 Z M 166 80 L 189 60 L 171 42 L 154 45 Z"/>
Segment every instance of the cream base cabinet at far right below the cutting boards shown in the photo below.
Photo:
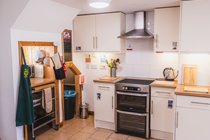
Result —
<path fill-rule="evenodd" d="M 209 124 L 209 98 L 177 96 L 175 140 L 209 140 Z"/>

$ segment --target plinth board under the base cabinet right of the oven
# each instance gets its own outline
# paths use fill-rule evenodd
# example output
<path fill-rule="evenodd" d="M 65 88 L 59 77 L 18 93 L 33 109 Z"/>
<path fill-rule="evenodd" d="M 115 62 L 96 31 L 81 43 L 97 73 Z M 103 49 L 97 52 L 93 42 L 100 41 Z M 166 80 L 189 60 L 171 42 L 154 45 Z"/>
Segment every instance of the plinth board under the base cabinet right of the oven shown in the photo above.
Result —
<path fill-rule="evenodd" d="M 162 140 L 173 140 L 173 133 L 151 130 L 151 137 Z"/>

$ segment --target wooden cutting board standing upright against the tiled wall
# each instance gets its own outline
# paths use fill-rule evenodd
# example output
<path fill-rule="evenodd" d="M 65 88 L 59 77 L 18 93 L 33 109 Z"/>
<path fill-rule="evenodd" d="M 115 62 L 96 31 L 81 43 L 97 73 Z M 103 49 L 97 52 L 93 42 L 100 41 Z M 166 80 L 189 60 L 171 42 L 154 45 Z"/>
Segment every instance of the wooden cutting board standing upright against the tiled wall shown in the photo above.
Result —
<path fill-rule="evenodd" d="M 196 85 L 197 65 L 182 65 L 182 84 Z"/>

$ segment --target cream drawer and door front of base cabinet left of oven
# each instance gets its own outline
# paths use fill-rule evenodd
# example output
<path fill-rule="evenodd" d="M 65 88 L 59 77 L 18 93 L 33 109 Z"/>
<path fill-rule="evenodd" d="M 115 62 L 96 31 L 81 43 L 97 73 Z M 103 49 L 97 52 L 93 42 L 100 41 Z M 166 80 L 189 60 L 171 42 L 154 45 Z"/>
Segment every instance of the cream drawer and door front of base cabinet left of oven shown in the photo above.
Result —
<path fill-rule="evenodd" d="M 95 119 L 114 122 L 114 88 L 112 86 L 96 86 L 94 100 Z"/>

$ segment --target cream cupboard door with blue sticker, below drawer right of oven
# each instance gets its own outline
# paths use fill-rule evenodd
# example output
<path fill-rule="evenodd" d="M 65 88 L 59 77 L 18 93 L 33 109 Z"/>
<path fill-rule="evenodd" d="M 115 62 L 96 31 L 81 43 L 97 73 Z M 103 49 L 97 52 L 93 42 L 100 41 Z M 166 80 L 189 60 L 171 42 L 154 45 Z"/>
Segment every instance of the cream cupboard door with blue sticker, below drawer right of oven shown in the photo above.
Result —
<path fill-rule="evenodd" d="M 172 106 L 171 106 L 172 103 Z M 151 129 L 174 132 L 174 100 L 169 98 L 151 98 Z"/>

